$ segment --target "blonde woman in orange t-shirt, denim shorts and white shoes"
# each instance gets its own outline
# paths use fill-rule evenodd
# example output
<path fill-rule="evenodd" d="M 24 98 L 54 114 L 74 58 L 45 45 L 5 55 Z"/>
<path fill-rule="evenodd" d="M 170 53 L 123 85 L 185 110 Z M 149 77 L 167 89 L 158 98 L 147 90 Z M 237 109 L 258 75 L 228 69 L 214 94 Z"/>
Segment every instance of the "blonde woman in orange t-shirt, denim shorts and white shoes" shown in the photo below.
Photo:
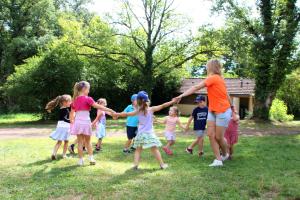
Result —
<path fill-rule="evenodd" d="M 209 166 L 222 166 L 227 160 L 227 144 L 224 140 L 224 132 L 232 116 L 232 102 L 227 93 L 225 81 L 222 77 L 222 65 L 218 60 L 210 60 L 206 64 L 207 78 L 176 97 L 180 102 L 182 97 L 194 94 L 196 91 L 206 87 L 209 101 L 207 117 L 207 135 L 209 136 L 211 147 L 216 159 Z M 233 113 L 235 115 L 235 113 Z M 222 155 L 220 155 L 220 148 Z"/>

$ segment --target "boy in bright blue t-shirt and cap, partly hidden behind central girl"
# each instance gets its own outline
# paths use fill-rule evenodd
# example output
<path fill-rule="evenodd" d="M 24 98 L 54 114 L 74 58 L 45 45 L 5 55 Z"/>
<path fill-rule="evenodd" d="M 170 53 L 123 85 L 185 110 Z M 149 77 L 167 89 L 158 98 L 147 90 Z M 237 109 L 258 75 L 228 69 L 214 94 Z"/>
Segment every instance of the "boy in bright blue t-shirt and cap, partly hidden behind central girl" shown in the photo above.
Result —
<path fill-rule="evenodd" d="M 129 113 L 129 112 L 133 112 L 136 110 L 136 106 L 137 106 L 137 94 L 134 94 L 131 96 L 131 102 L 132 104 L 128 105 L 125 110 L 123 112 L 125 113 Z M 127 141 L 124 145 L 124 149 L 123 149 L 123 153 L 131 153 L 132 151 L 134 151 L 134 148 L 130 147 L 132 140 L 135 138 L 136 136 L 136 132 L 137 132 L 137 126 L 139 123 L 139 119 L 137 116 L 128 116 L 127 117 L 127 121 L 126 121 L 126 132 L 127 132 Z"/>

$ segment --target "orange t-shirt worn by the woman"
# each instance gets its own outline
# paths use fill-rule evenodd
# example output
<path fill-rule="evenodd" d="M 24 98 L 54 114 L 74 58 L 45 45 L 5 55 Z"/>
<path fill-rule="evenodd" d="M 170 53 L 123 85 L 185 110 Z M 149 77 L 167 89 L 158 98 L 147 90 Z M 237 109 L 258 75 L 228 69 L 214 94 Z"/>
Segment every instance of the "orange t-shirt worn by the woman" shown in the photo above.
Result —
<path fill-rule="evenodd" d="M 230 108 L 225 81 L 221 76 L 212 75 L 207 77 L 205 85 L 207 87 L 209 111 L 223 113 Z"/>

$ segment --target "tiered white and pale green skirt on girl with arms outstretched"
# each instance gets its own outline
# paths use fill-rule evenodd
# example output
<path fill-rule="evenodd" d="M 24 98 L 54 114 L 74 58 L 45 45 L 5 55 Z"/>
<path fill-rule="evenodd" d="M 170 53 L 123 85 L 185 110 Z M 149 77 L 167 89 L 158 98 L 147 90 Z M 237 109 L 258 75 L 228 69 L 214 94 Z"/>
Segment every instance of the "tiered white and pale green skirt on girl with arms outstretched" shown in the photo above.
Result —
<path fill-rule="evenodd" d="M 134 139 L 133 147 L 142 147 L 143 149 L 151 147 L 160 147 L 162 144 L 154 133 L 138 133 Z"/>

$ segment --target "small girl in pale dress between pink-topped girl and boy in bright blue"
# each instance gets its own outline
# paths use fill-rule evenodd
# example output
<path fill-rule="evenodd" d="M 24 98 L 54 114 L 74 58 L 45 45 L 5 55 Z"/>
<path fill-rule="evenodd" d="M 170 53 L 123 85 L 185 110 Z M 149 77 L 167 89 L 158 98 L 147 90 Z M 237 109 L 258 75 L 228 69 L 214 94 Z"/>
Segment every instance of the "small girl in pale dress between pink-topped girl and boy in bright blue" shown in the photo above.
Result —
<path fill-rule="evenodd" d="M 97 103 L 104 107 L 107 106 L 107 101 L 104 98 L 98 99 Z M 97 110 L 97 117 L 93 121 L 92 126 L 96 128 L 96 137 L 98 138 L 98 142 L 96 144 L 95 150 L 100 151 L 102 149 L 102 139 L 106 136 L 105 126 L 106 126 L 106 114 L 112 115 L 109 112 L 105 112 L 101 109 Z"/>

